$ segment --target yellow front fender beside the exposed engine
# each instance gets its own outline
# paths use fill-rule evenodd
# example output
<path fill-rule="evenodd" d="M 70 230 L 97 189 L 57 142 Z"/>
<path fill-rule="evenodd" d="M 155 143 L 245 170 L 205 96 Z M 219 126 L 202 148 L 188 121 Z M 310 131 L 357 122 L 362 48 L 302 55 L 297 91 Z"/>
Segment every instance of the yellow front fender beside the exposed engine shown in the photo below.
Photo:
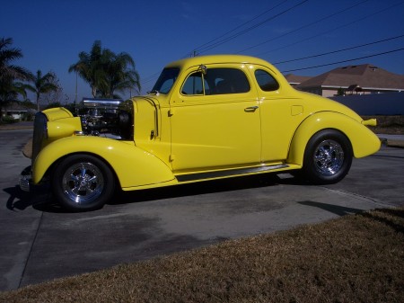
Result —
<path fill-rule="evenodd" d="M 136 147 L 134 142 L 80 136 L 61 138 L 44 147 L 32 167 L 33 183 L 40 183 L 49 167 L 58 159 L 75 153 L 88 153 L 102 158 L 117 174 L 122 189 L 152 187 L 153 184 L 175 180 L 171 169 L 162 160 Z"/>

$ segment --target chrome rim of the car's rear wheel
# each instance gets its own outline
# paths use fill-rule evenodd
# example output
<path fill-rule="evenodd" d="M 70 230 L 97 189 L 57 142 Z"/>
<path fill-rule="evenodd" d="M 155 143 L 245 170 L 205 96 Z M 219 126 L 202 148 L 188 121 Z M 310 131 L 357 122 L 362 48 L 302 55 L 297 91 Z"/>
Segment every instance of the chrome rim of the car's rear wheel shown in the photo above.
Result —
<path fill-rule="evenodd" d="M 324 175 L 337 174 L 344 163 L 344 150 L 334 140 L 324 140 L 314 152 L 316 170 Z"/>

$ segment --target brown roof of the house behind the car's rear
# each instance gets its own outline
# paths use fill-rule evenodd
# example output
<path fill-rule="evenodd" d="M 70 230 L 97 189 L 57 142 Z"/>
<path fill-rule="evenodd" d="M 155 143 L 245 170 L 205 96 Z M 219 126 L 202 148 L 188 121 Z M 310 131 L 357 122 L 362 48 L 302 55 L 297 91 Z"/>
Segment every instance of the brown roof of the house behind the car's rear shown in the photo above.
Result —
<path fill-rule="evenodd" d="M 320 76 L 314 76 L 297 88 L 343 87 L 358 85 L 363 89 L 404 90 L 404 76 L 393 74 L 371 64 L 338 67 Z"/>

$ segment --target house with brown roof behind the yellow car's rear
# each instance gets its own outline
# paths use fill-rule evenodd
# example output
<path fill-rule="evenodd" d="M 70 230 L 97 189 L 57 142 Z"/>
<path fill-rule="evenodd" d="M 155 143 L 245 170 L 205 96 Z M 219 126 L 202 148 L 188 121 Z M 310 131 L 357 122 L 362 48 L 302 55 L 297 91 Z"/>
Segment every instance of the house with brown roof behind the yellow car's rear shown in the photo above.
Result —
<path fill-rule="evenodd" d="M 337 94 L 379 94 L 404 91 L 404 76 L 371 64 L 338 67 L 320 76 L 285 76 L 294 88 L 331 97 Z M 299 82 L 299 80 L 301 80 Z"/>

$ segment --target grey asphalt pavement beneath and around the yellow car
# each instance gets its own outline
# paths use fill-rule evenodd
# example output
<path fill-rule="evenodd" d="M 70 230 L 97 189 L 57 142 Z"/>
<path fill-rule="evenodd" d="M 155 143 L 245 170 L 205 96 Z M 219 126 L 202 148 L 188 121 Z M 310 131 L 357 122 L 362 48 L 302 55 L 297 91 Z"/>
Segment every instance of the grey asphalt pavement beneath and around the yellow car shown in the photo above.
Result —
<path fill-rule="evenodd" d="M 48 189 L 32 196 L 17 186 L 30 137 L 0 131 L 0 290 L 404 205 L 404 149 L 382 147 L 334 185 L 269 174 L 122 193 L 101 210 L 67 213 Z"/>

